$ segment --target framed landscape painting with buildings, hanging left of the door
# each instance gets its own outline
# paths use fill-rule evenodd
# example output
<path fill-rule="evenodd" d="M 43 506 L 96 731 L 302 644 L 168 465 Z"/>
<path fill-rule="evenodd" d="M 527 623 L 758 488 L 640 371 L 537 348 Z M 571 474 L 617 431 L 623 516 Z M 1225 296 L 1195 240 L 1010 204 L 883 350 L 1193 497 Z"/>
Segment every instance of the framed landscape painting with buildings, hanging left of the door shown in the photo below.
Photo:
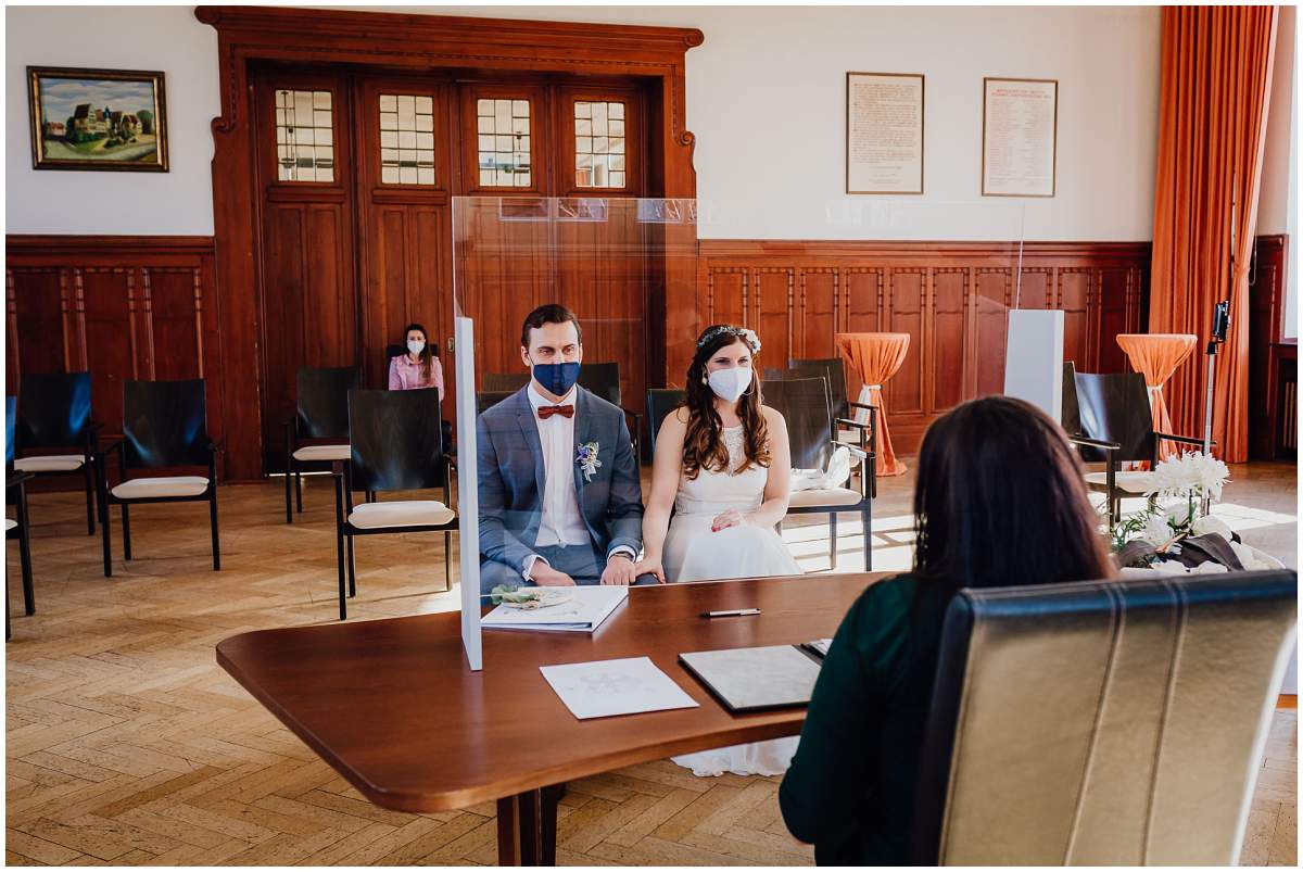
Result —
<path fill-rule="evenodd" d="M 27 68 L 35 169 L 167 172 L 163 73 Z"/>

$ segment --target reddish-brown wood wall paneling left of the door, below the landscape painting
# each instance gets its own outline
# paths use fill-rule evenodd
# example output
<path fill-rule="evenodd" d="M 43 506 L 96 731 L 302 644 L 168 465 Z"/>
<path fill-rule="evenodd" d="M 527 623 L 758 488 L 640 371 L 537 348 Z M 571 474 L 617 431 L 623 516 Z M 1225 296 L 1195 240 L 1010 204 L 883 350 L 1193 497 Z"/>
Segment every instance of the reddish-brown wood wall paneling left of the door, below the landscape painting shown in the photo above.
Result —
<path fill-rule="evenodd" d="M 207 236 L 17 236 L 5 239 L 5 379 L 91 373 L 91 413 L 122 431 L 122 382 L 207 379 L 208 433 L 231 426 L 228 390 L 257 401 L 257 385 L 228 382 Z M 246 349 L 245 353 L 249 353 Z"/>

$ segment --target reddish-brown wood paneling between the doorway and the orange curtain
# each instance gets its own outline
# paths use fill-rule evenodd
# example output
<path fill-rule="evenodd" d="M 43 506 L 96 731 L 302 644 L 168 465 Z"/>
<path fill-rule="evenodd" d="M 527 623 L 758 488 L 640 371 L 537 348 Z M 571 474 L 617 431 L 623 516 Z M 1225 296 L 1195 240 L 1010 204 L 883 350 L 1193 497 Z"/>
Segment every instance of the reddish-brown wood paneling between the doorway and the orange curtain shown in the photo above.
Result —
<path fill-rule="evenodd" d="M 838 332 L 909 334 L 886 401 L 896 450 L 912 452 L 938 414 L 1003 390 L 1009 309 L 1063 309 L 1065 356 L 1126 371 L 1114 336 L 1144 328 L 1148 283 L 1148 242 L 1027 242 L 1019 270 L 994 242 L 702 240 L 697 315 L 753 327 L 766 366 L 833 357 Z"/>

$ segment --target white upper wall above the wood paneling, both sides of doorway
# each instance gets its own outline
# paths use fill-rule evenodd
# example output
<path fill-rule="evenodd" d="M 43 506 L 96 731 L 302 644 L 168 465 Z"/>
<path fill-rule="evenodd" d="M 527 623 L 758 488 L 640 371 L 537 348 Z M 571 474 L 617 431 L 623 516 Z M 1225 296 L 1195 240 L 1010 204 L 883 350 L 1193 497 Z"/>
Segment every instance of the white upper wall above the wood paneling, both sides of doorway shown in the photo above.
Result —
<path fill-rule="evenodd" d="M 400 8 L 392 8 L 400 9 Z M 403 8 L 404 12 L 417 9 Z M 1157 8 L 423 7 L 485 17 L 700 27 L 688 52 L 688 128 L 702 236 L 741 239 L 1148 240 L 1153 222 Z M 172 172 L 33 172 L 25 111 L 9 113 L 9 232 L 104 232 L 66 209 L 138 203 L 121 233 L 211 232 L 208 123 L 218 112 L 215 31 L 190 8 L 8 9 L 10 107 L 23 66 L 168 73 Z M 926 76 L 926 193 L 848 197 L 846 72 Z M 981 80 L 1059 80 L 1058 196 L 980 197 Z M 1024 215 L 1025 205 L 1025 215 Z M 1025 227 L 1025 231 L 1024 231 Z"/>

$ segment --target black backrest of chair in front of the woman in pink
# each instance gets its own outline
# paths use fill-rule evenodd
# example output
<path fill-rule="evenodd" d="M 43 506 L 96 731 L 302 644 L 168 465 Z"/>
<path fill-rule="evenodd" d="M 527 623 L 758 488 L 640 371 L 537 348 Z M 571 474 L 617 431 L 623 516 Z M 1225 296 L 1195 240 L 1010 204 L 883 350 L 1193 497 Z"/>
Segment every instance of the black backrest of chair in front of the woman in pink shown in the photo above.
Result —
<path fill-rule="evenodd" d="M 348 392 L 353 490 L 422 490 L 443 485 L 439 390 Z"/>

